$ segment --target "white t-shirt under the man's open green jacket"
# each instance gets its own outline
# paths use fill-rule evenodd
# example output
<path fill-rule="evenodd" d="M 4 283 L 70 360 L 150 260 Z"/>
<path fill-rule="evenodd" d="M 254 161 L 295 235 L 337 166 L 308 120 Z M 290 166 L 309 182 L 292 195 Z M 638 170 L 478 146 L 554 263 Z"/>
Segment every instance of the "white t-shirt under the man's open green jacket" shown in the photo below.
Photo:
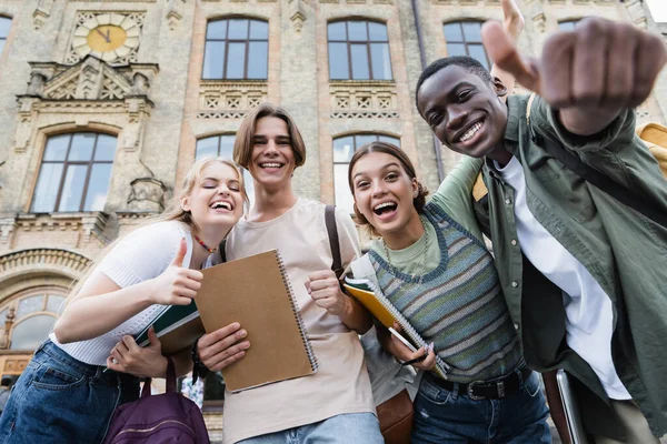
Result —
<path fill-rule="evenodd" d="M 535 219 L 526 202 L 526 178 L 512 157 L 496 169 L 515 190 L 515 216 L 521 251 L 549 281 L 563 290 L 567 344 L 600 380 L 607 396 L 630 400 L 611 360 L 611 300 L 586 268 Z"/>

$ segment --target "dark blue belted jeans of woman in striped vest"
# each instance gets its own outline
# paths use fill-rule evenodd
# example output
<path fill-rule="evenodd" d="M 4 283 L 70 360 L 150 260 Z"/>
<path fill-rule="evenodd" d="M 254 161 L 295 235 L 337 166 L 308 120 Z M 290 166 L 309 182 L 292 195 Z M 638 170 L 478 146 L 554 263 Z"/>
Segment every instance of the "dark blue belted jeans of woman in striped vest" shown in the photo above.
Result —
<path fill-rule="evenodd" d="M 516 371 L 518 372 L 518 371 Z M 519 374 L 520 377 L 520 374 Z M 539 376 L 521 381 L 518 392 L 501 400 L 476 401 L 421 380 L 415 400 L 412 443 L 550 443 L 549 410 Z"/>

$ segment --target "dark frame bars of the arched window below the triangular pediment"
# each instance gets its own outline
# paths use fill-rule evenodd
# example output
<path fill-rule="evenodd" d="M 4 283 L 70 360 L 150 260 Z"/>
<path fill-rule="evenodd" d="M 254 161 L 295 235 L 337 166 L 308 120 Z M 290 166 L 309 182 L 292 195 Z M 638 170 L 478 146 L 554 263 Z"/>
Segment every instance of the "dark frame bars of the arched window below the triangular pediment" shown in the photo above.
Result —
<path fill-rule="evenodd" d="M 69 154 L 71 152 L 71 148 L 72 148 L 72 141 L 74 140 L 74 135 L 77 134 L 94 134 L 94 142 L 92 144 L 92 152 L 90 153 L 90 160 L 88 161 L 69 161 Z M 47 152 L 47 148 L 49 144 L 49 140 L 51 138 L 54 137 L 59 137 L 59 135 L 69 135 L 69 142 L 67 145 L 67 151 L 64 153 L 64 160 L 62 161 L 51 161 L 51 160 L 44 160 L 43 157 Z M 39 172 L 37 174 L 37 181 L 36 181 L 36 188 L 32 191 L 32 199 L 31 199 L 31 203 L 30 203 L 30 212 L 31 213 L 43 213 L 42 211 L 40 212 L 36 212 L 33 210 L 33 205 L 34 205 L 34 198 L 36 198 L 36 192 L 37 192 L 37 185 L 39 184 L 39 181 L 41 179 L 41 173 L 42 173 L 42 167 L 44 164 L 62 164 L 62 171 L 60 173 L 60 182 L 58 185 L 58 194 L 56 195 L 56 201 L 53 202 L 53 209 L 51 211 L 47 211 L 47 213 L 82 213 L 82 212 L 88 212 L 88 211 L 93 211 L 93 210 L 86 210 L 84 205 L 86 205 L 86 200 L 88 196 L 88 188 L 90 185 L 90 176 L 92 174 L 92 167 L 96 164 L 111 164 L 113 167 L 113 162 L 115 160 L 110 160 L 110 161 L 96 161 L 94 160 L 94 154 L 97 152 L 97 148 L 98 148 L 98 140 L 100 135 L 108 135 L 108 137 L 112 137 L 116 140 L 116 148 L 113 150 L 113 157 L 116 157 L 117 150 L 118 150 L 118 135 L 117 134 L 110 134 L 107 132 L 101 132 L 101 131 L 76 131 L 76 132 L 64 132 L 64 133 L 57 133 L 57 134 L 50 134 L 44 143 L 44 151 L 42 152 L 42 160 L 39 164 Z M 88 167 L 88 171 L 86 172 L 86 181 L 83 184 L 83 191 L 81 192 L 81 201 L 79 202 L 79 208 L 76 211 L 60 211 L 58 210 L 58 208 L 60 206 L 60 201 L 62 200 L 62 191 L 64 189 L 64 179 L 67 176 L 67 172 L 70 165 L 87 165 Z M 109 173 L 109 180 L 111 179 L 111 174 L 112 171 Z M 108 196 L 108 191 L 107 191 L 107 196 Z"/>

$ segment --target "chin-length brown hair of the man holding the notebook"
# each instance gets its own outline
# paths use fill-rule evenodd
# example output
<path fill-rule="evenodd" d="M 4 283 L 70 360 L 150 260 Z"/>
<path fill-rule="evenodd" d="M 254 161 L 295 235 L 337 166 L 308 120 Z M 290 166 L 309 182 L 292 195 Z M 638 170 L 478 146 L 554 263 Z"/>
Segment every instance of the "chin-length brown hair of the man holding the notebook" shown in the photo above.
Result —
<path fill-rule="evenodd" d="M 287 131 L 295 153 L 296 167 L 306 162 L 306 144 L 293 119 L 285 108 L 271 103 L 262 103 L 243 118 L 233 142 L 233 161 L 243 168 L 248 168 L 252 159 L 252 147 L 255 145 L 255 128 L 262 118 L 278 118 L 287 123 Z"/>

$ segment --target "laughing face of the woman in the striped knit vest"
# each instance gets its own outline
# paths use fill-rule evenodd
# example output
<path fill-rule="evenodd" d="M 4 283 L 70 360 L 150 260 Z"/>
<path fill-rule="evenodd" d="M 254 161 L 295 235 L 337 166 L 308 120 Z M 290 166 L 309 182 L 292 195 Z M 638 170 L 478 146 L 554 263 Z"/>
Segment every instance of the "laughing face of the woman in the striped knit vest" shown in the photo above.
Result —
<path fill-rule="evenodd" d="M 396 157 L 370 152 L 354 164 L 350 174 L 357 209 L 382 238 L 400 235 L 418 221 L 414 203 L 417 179 L 410 178 Z"/>

